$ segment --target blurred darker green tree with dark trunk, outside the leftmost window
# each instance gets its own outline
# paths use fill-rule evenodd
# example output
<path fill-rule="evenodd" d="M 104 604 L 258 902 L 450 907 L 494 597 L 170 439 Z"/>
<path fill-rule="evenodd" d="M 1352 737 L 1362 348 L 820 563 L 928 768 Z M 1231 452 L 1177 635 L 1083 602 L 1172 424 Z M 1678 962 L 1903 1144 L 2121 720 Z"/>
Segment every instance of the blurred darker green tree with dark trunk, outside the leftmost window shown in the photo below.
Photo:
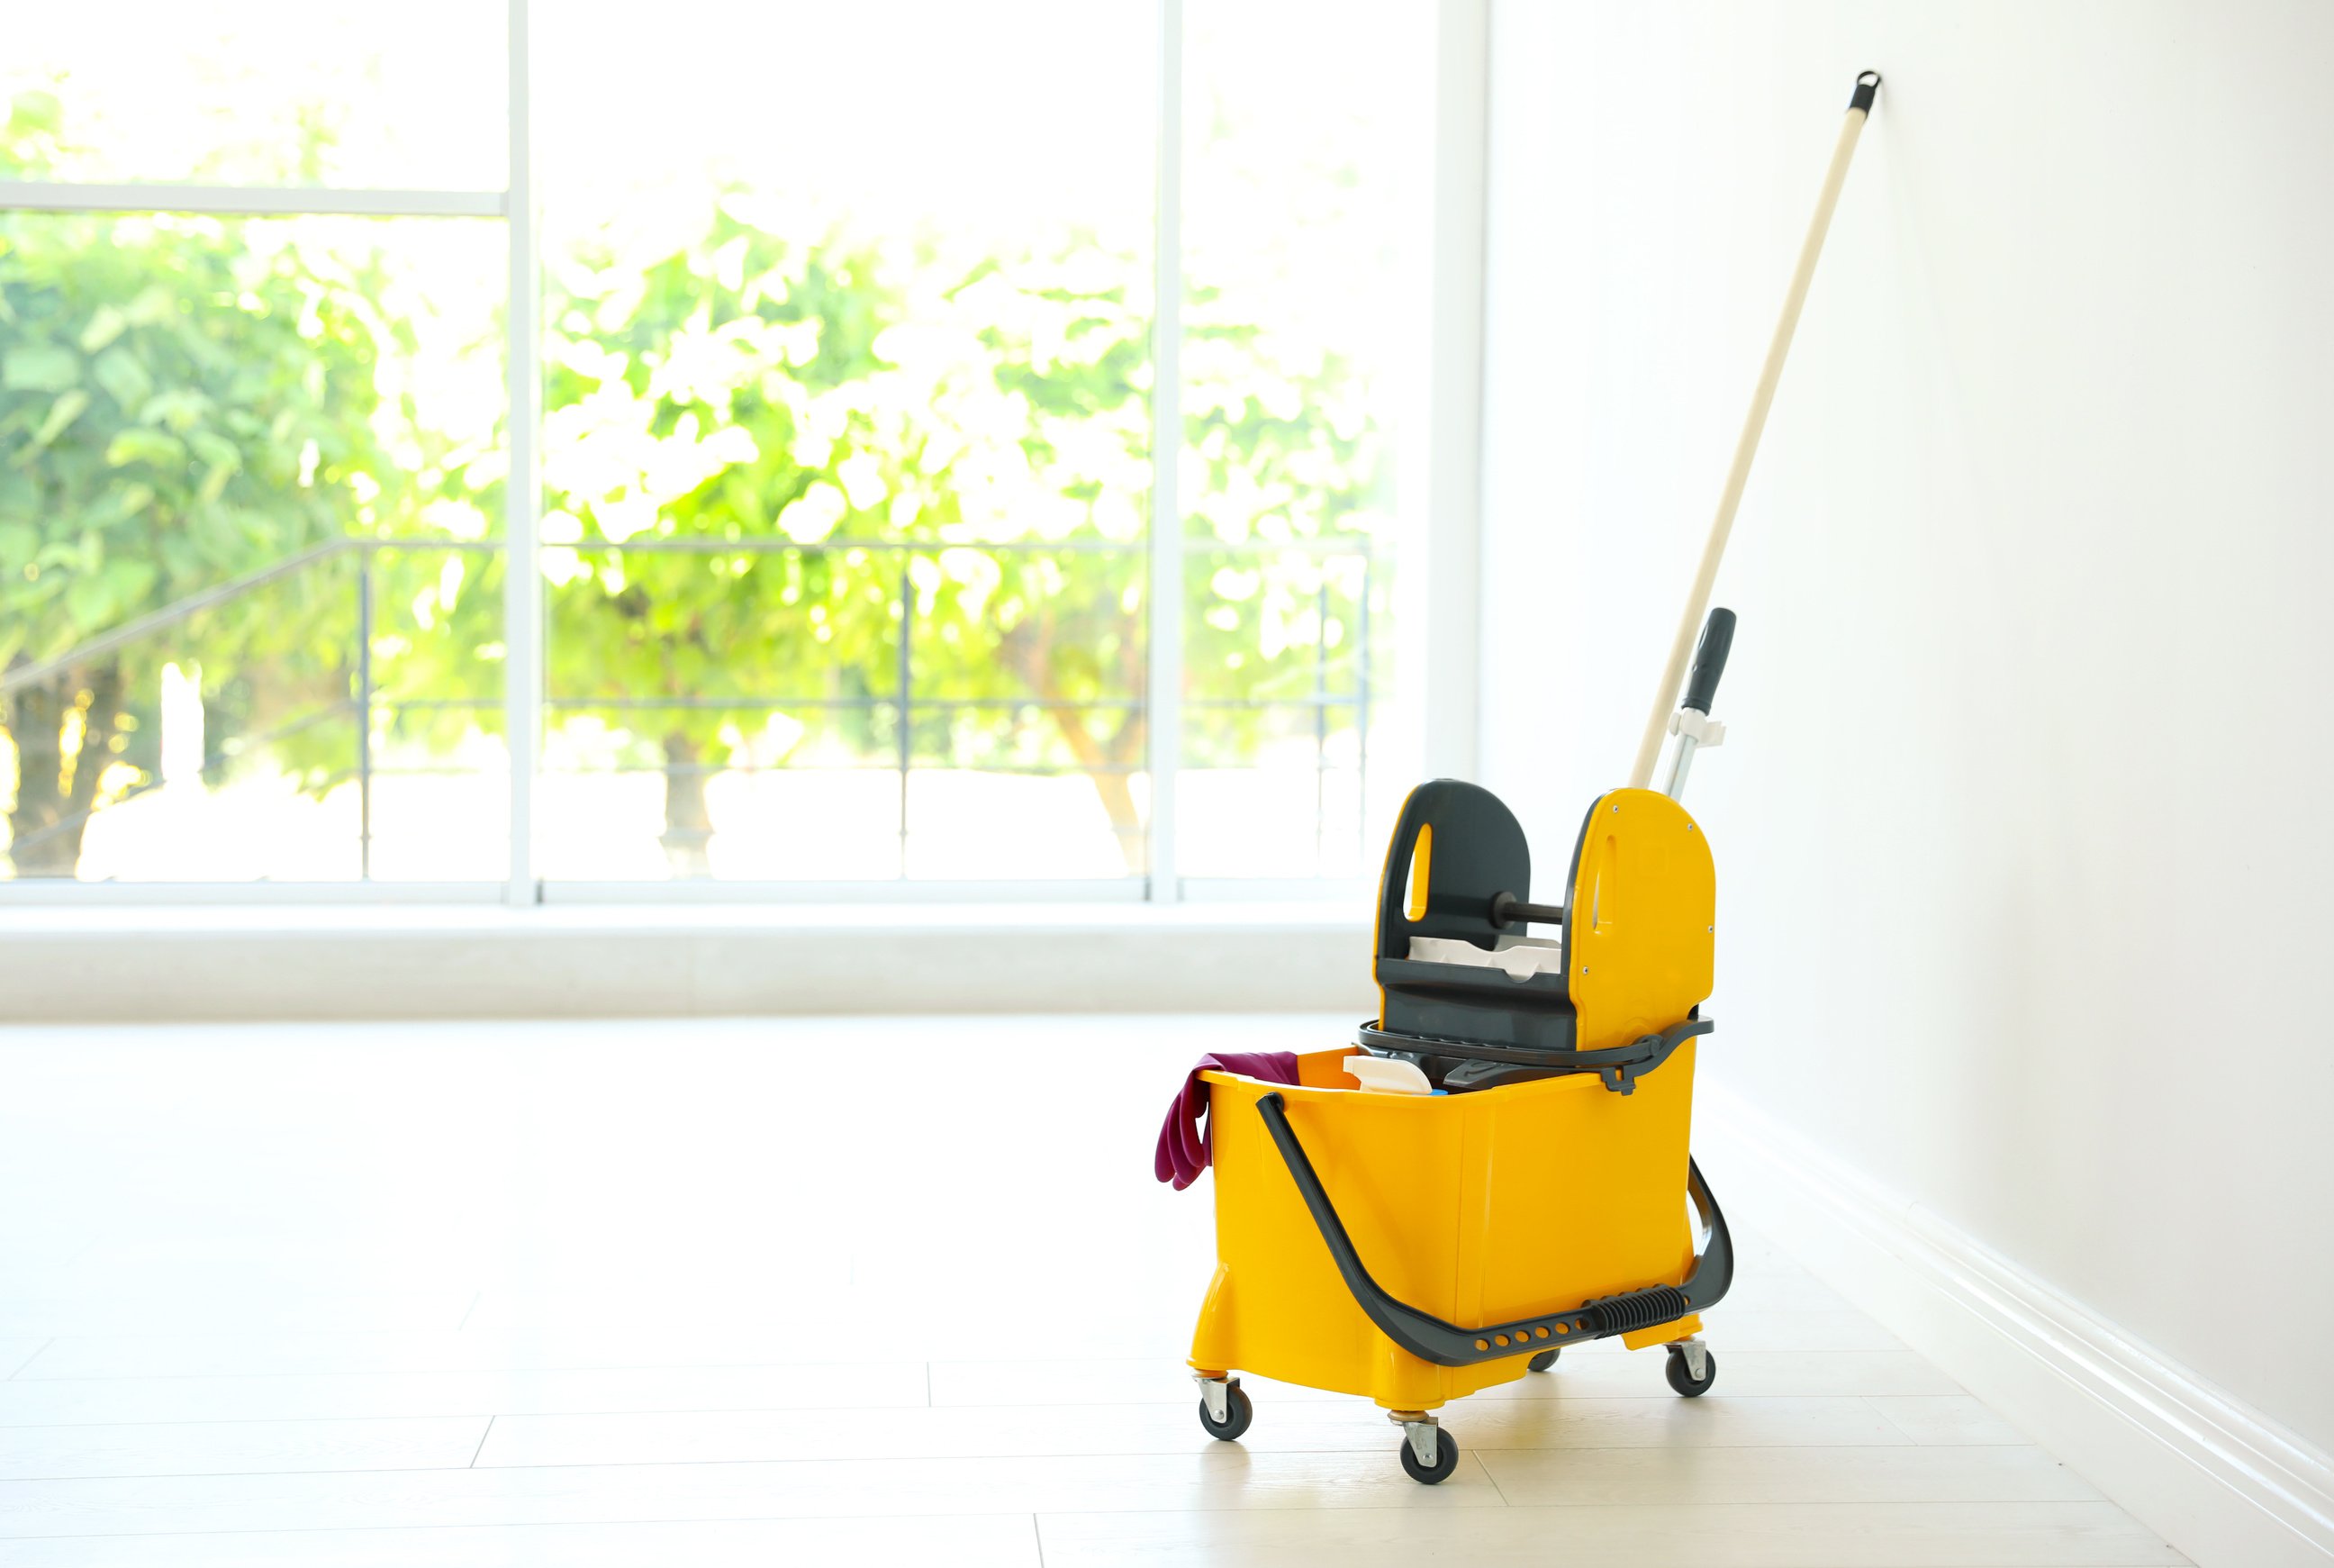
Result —
<path fill-rule="evenodd" d="M 58 147 L 56 98 L 19 96 L 0 173 L 37 175 Z M 0 215 L 0 670 L 19 677 L 0 728 L 16 756 L 16 875 L 70 877 L 89 817 L 154 782 L 163 658 L 231 672 L 212 737 L 345 702 L 345 574 L 56 660 L 373 516 L 399 469 L 371 425 L 378 341 L 397 331 L 371 292 L 362 271 L 322 275 L 236 222 Z"/>

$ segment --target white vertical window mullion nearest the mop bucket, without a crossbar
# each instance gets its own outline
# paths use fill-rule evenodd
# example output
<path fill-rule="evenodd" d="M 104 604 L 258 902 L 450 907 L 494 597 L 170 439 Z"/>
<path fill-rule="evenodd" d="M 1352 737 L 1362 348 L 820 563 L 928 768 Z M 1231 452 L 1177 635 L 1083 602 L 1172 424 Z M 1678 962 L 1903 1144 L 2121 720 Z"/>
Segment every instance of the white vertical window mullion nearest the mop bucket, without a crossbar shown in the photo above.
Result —
<path fill-rule="evenodd" d="M 1176 770 L 1183 740 L 1183 0 L 1160 0 L 1158 208 L 1151 303 L 1151 667 L 1144 691 L 1151 772 L 1151 901 L 1176 903 Z"/>

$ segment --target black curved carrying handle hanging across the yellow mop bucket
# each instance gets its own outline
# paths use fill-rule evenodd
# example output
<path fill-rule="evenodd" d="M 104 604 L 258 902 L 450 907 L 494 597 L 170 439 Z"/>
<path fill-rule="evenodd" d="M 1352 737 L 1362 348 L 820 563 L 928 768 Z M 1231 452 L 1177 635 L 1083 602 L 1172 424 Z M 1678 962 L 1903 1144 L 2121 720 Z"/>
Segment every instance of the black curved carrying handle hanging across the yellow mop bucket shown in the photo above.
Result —
<path fill-rule="evenodd" d="M 1501 1360 L 1503 1356 L 1557 1349 L 1580 1339 L 1608 1339 L 1636 1332 L 1638 1328 L 1652 1328 L 1655 1323 L 1673 1323 L 1690 1311 L 1715 1307 L 1727 1286 L 1734 1283 L 1734 1241 L 1727 1234 L 1727 1216 L 1718 1211 L 1718 1199 L 1711 1197 L 1708 1183 L 1701 1181 L 1701 1167 L 1687 1157 L 1685 1192 L 1694 1199 L 1694 1213 L 1701 1216 L 1706 1234 L 1701 1251 L 1694 1253 L 1694 1267 L 1685 1272 L 1683 1283 L 1622 1290 L 1620 1295 L 1582 1302 L 1571 1311 L 1517 1318 L 1515 1323 L 1494 1323 L 1489 1328 L 1445 1323 L 1433 1314 L 1393 1300 L 1370 1279 L 1361 1253 L 1354 1251 L 1354 1239 L 1344 1234 L 1337 1206 L 1328 1202 L 1321 1176 L 1314 1174 L 1312 1160 L 1305 1157 L 1305 1146 L 1288 1125 L 1288 1101 L 1274 1090 L 1256 1101 L 1256 1113 L 1265 1118 L 1265 1132 L 1272 1134 L 1272 1146 L 1281 1150 L 1288 1178 L 1298 1183 L 1298 1195 L 1305 1199 L 1305 1209 L 1312 1211 L 1314 1225 L 1321 1230 L 1321 1241 L 1328 1244 L 1328 1255 L 1335 1260 L 1337 1274 L 1344 1276 L 1344 1288 L 1354 1293 L 1354 1302 L 1363 1316 L 1386 1339 L 1438 1367 L 1470 1367 L 1484 1360 Z"/>

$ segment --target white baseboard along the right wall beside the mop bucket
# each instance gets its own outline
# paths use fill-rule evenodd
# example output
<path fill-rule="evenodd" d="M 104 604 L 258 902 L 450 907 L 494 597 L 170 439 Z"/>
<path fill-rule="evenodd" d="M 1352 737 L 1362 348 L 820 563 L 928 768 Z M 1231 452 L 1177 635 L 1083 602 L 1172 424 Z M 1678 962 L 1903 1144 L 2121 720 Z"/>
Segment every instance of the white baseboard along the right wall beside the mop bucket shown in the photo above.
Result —
<path fill-rule="evenodd" d="M 1729 1211 L 2201 1568 L 2334 1563 L 2327 1454 L 1741 1099 L 1704 1094 L 1697 1155 Z"/>

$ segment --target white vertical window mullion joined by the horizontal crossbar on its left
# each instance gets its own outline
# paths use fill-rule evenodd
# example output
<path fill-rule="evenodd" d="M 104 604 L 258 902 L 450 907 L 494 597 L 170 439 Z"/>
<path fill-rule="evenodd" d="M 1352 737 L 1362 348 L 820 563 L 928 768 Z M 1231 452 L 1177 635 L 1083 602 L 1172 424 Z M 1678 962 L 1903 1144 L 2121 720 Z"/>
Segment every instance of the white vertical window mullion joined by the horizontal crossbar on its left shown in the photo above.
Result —
<path fill-rule="evenodd" d="M 502 506 L 502 705 L 511 756 L 509 903 L 537 901 L 534 777 L 544 726 L 544 593 L 534 560 L 541 434 L 541 266 L 537 264 L 534 166 L 530 149 L 527 0 L 511 5 L 511 287 L 504 303 L 511 476 Z"/>

